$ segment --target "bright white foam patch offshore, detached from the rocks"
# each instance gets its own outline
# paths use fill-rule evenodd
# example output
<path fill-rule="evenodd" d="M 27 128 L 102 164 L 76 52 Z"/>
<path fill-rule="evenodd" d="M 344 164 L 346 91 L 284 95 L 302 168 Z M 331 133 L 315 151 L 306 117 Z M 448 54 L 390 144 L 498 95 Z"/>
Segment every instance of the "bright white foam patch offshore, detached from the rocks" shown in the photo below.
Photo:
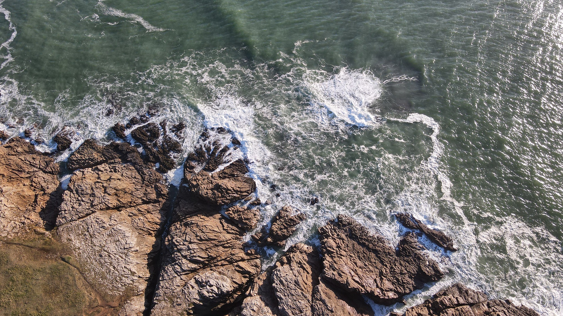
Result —
<path fill-rule="evenodd" d="M 305 87 L 311 93 L 314 106 L 325 107 L 337 120 L 358 127 L 372 125 L 376 118 L 370 106 L 383 92 L 381 80 L 371 71 L 352 71 L 343 67 L 337 74 L 324 79 L 323 71 L 307 71 Z"/>

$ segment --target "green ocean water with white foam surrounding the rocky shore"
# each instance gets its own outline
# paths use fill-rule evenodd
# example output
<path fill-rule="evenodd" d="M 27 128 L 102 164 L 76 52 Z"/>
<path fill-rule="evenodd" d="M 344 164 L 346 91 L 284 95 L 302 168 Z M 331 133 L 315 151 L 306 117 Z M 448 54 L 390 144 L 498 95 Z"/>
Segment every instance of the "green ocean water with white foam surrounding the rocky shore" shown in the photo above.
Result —
<path fill-rule="evenodd" d="M 51 151 L 69 125 L 72 148 L 108 142 L 158 104 L 154 121 L 188 126 L 178 165 L 204 127 L 240 139 L 273 202 L 262 223 L 285 204 L 309 215 L 290 244 L 340 213 L 392 242 L 399 211 L 452 236 L 455 253 L 421 238 L 448 274 L 406 306 L 462 281 L 563 314 L 561 2 L 0 0 L 0 12 L 11 136 L 32 128 Z"/>

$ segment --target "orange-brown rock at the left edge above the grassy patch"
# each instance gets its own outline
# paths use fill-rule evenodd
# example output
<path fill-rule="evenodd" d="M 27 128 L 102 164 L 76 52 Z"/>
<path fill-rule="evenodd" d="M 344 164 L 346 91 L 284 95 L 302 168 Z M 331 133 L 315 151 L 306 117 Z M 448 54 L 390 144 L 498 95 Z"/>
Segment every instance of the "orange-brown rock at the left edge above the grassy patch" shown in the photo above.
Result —
<path fill-rule="evenodd" d="M 59 165 L 20 137 L 0 147 L 0 236 L 45 232 L 60 201 Z"/>

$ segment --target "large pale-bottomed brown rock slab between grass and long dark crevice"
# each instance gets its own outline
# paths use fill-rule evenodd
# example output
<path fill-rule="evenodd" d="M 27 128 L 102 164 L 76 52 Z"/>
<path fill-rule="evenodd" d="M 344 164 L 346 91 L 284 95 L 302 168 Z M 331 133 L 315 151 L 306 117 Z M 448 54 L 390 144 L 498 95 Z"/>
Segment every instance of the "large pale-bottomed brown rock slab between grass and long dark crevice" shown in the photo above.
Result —
<path fill-rule="evenodd" d="M 154 165 L 143 164 L 127 143 L 102 147 L 86 141 L 82 146 L 69 157 L 69 164 L 81 169 L 62 195 L 57 232 L 104 299 L 127 300 L 127 315 L 141 315 L 168 188 Z"/>

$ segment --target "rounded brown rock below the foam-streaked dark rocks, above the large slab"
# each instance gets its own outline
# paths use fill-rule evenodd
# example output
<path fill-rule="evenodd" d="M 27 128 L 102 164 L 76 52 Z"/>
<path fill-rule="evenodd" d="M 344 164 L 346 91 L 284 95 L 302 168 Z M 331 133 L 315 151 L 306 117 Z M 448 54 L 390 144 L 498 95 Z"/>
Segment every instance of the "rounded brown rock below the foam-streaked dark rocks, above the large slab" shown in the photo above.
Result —
<path fill-rule="evenodd" d="M 226 205 L 242 200 L 256 190 L 256 183 L 245 176 L 246 173 L 248 169 L 244 161 L 237 160 L 215 173 L 202 170 L 186 178 L 187 185 L 196 195 L 213 204 Z"/>

